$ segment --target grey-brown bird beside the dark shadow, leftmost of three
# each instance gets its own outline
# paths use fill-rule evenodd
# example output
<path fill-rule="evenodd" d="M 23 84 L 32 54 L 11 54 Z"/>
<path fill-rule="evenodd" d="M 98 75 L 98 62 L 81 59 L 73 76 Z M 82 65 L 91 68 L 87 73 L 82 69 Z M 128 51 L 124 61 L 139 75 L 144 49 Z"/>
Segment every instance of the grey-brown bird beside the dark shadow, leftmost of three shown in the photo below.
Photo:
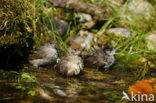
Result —
<path fill-rule="evenodd" d="M 55 63 L 58 59 L 56 45 L 55 40 L 49 40 L 29 55 L 29 63 L 37 68 Z"/>

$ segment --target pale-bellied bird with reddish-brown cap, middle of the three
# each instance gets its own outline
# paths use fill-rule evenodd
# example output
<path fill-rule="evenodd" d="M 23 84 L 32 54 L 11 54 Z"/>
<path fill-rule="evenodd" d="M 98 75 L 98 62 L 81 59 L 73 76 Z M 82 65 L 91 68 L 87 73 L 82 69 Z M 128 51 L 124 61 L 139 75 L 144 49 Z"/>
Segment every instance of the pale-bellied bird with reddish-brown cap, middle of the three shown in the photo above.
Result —
<path fill-rule="evenodd" d="M 81 53 L 81 45 L 73 44 L 69 47 L 68 52 L 60 59 L 58 63 L 59 72 L 64 76 L 78 75 L 83 70 L 83 61 L 79 56 Z"/>

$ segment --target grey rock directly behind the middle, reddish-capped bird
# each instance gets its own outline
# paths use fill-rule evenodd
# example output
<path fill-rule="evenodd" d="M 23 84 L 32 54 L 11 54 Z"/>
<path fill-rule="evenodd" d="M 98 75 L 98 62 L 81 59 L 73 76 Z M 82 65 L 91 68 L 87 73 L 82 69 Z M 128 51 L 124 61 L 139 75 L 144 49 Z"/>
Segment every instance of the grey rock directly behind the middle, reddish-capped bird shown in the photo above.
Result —
<path fill-rule="evenodd" d="M 70 44 L 78 43 L 84 49 L 89 49 L 93 41 L 93 34 L 85 31 L 81 31 L 80 35 L 73 38 Z"/>

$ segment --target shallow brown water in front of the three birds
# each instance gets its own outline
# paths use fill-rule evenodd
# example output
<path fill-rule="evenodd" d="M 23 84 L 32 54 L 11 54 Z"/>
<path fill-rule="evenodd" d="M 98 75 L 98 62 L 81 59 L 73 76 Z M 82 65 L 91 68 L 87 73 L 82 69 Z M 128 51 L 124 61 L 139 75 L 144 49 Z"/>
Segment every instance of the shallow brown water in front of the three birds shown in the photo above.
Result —
<path fill-rule="evenodd" d="M 79 76 L 63 77 L 53 67 L 37 69 L 26 65 L 20 72 L 0 72 L 0 101 L 2 103 L 121 103 L 122 91 L 127 91 L 136 81 L 134 70 L 121 69 L 117 66 L 107 70 L 85 68 Z M 145 78 L 155 77 L 154 71 L 150 69 Z M 23 73 L 35 79 L 22 78 Z"/>

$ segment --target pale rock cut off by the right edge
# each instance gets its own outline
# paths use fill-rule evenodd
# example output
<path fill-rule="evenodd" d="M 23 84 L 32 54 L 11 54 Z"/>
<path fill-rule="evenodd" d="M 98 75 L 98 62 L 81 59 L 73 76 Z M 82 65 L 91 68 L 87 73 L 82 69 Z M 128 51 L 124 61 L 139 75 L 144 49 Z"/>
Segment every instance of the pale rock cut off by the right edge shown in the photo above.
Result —
<path fill-rule="evenodd" d="M 149 33 L 146 37 L 147 48 L 156 51 L 156 31 Z"/>

